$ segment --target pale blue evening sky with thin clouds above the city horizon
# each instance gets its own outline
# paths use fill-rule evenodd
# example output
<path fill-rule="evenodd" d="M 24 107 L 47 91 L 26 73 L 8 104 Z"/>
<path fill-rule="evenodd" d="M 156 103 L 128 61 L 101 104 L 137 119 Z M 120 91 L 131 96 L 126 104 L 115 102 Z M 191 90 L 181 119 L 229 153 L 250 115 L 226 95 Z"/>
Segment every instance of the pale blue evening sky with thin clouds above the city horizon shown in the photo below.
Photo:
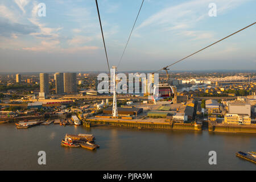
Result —
<path fill-rule="evenodd" d="M 46 16 L 42 6 L 46 5 Z M 110 67 L 142 0 L 98 0 Z M 216 16 L 209 16 L 210 3 Z M 254 0 L 144 0 L 118 71 L 156 71 L 255 22 Z M 39 12 L 39 14 L 38 14 Z M 170 67 L 256 70 L 256 25 Z M 0 72 L 108 71 L 93 0 L 1 0 Z"/>

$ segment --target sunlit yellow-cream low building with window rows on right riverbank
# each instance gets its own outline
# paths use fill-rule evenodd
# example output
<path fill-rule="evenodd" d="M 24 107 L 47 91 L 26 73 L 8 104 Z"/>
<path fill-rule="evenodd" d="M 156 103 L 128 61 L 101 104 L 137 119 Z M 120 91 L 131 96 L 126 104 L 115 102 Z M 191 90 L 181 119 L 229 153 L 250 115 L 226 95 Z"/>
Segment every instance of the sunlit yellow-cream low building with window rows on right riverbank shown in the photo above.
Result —
<path fill-rule="evenodd" d="M 224 123 L 228 124 L 251 124 L 251 118 L 248 114 L 231 114 L 227 113 L 224 117 Z"/>

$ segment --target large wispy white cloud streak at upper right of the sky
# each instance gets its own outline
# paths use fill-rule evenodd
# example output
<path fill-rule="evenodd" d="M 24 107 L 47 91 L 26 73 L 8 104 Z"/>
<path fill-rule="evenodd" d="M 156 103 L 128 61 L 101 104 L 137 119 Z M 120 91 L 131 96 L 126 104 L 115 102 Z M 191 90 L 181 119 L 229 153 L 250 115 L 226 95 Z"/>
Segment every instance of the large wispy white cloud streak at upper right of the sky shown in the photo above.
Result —
<path fill-rule="evenodd" d="M 215 0 L 214 3 L 217 4 L 217 16 L 226 13 L 230 9 L 234 9 L 246 1 L 250 0 Z M 211 2 L 212 0 L 196 0 L 167 7 L 144 20 L 137 29 L 147 26 L 160 26 L 164 30 L 178 30 L 184 27 L 193 27 L 196 22 L 209 17 L 208 5 Z"/>

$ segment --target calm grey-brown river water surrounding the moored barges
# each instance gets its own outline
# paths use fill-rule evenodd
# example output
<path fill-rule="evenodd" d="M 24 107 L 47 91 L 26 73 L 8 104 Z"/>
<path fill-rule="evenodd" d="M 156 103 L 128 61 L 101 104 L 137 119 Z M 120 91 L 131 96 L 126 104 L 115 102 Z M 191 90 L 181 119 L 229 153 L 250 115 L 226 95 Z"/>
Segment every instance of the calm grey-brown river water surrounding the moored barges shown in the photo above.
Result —
<path fill-rule="evenodd" d="M 64 135 L 93 134 L 100 149 L 60 146 Z M 0 170 L 255 170 L 236 157 L 256 151 L 255 134 L 203 131 L 139 130 L 118 127 L 35 126 L 16 129 L 0 125 Z M 46 165 L 38 152 L 46 152 Z M 209 165 L 209 151 L 217 164 Z"/>

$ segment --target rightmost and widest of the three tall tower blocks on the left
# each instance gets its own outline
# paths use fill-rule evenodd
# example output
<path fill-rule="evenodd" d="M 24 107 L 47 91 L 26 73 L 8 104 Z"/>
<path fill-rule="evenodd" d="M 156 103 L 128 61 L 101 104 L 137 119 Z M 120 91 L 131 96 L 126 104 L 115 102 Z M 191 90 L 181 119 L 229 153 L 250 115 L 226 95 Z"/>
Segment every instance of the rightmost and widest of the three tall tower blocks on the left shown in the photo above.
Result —
<path fill-rule="evenodd" d="M 64 73 L 64 92 L 77 92 L 76 73 Z"/>

